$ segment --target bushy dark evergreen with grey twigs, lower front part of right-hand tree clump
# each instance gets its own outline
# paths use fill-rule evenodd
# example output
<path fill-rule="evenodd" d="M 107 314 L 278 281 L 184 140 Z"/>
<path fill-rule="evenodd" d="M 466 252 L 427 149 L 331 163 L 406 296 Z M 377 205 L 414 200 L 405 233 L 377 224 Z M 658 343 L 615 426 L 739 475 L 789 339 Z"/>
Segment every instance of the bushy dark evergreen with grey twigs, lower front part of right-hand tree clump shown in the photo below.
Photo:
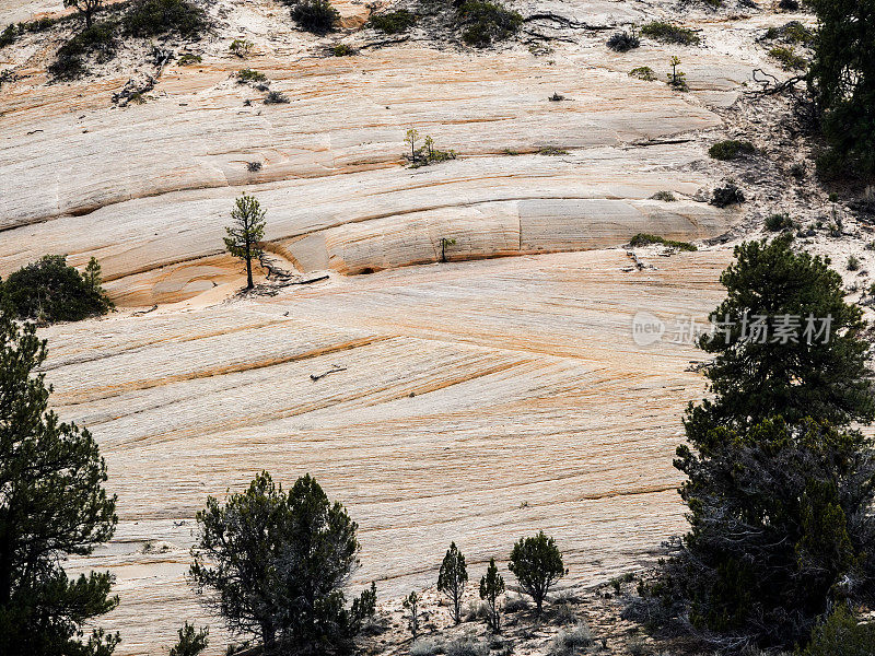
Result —
<path fill-rule="evenodd" d="M 695 626 L 789 648 L 831 601 L 868 598 L 875 524 L 858 519 L 875 500 L 868 438 L 780 417 L 698 429 L 688 423 L 696 452 L 679 446 L 675 461 L 690 532 L 666 565 L 666 594 L 688 600 Z"/>

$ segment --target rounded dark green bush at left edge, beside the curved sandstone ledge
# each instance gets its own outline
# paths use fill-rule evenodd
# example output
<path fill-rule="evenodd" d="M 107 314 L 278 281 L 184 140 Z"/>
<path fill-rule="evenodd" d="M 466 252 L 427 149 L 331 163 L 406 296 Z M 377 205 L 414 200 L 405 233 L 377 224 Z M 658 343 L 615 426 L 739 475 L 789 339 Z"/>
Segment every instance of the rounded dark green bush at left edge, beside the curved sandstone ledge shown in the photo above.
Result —
<path fill-rule="evenodd" d="M 94 258 L 83 276 L 67 266 L 66 256 L 47 255 L 11 273 L 2 290 L 22 319 L 79 321 L 113 307 L 101 286 L 101 267 Z"/>

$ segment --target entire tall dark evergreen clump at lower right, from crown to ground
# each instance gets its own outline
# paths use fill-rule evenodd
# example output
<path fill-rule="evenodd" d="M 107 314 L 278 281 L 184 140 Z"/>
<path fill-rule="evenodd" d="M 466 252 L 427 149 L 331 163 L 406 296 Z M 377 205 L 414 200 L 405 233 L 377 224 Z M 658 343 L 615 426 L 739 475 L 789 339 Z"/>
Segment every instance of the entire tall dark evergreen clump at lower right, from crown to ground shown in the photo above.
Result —
<path fill-rule="evenodd" d="M 868 344 L 827 261 L 791 239 L 736 248 L 714 312 L 711 399 L 690 406 L 675 467 L 689 532 L 632 614 L 722 649 L 804 644 L 838 602 L 875 602 Z M 772 341 L 781 316 L 831 318 L 829 339 Z M 768 329 L 763 340 L 744 316 Z"/>

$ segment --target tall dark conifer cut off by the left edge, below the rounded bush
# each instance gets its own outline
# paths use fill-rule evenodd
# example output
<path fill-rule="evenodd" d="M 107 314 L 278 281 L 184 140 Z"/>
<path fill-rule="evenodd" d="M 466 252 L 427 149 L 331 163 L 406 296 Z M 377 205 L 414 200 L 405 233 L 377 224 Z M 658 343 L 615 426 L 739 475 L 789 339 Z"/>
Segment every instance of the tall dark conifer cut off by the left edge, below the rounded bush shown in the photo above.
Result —
<path fill-rule="evenodd" d="M 45 341 L 0 305 L 0 654 L 108 656 L 118 636 L 83 624 L 118 604 L 108 572 L 68 577 L 115 531 L 106 464 L 86 430 L 48 409 Z"/>

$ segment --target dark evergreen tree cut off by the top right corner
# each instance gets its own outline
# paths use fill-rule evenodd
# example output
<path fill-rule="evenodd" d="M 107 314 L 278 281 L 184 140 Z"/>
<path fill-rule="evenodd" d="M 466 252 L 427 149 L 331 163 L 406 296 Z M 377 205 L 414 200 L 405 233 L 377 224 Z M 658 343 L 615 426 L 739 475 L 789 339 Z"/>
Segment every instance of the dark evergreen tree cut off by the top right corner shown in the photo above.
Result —
<path fill-rule="evenodd" d="M 827 175 L 875 176 L 875 0 L 810 0 L 819 21 L 809 80 L 830 152 Z"/>

